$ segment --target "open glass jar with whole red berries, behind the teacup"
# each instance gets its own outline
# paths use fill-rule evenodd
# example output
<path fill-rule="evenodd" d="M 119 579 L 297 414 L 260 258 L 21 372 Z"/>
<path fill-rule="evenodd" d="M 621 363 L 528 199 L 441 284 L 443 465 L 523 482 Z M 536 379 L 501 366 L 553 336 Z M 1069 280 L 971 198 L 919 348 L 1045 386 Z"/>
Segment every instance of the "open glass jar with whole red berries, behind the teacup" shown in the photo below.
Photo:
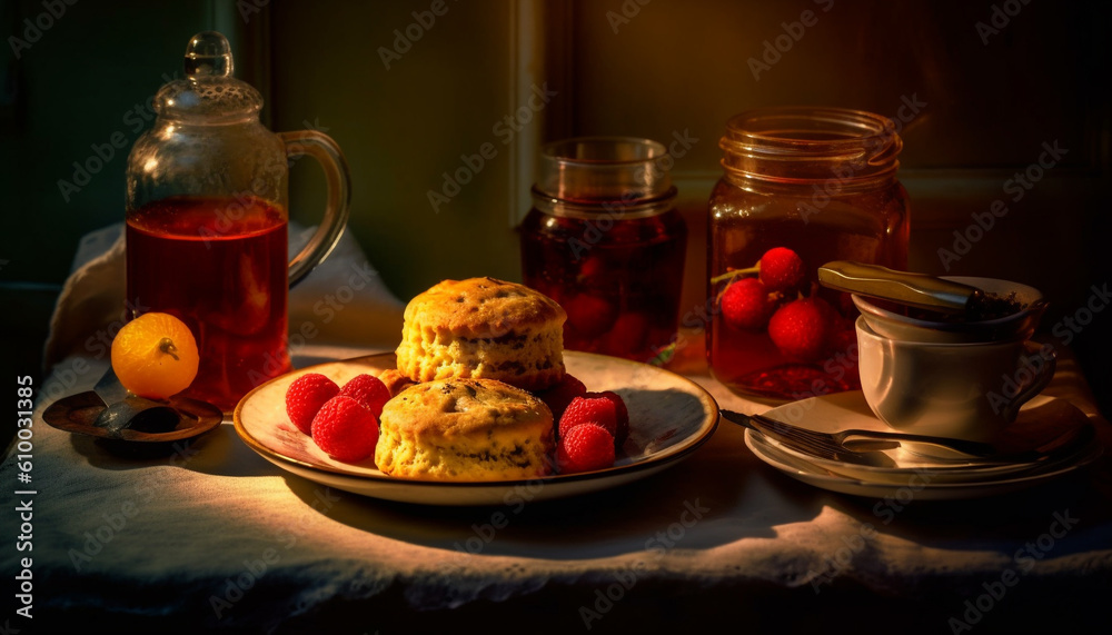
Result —
<path fill-rule="evenodd" d="M 714 377 L 772 399 L 858 388 L 856 309 L 848 294 L 821 288 L 816 271 L 831 260 L 906 269 L 907 192 L 896 179 L 903 141 L 894 125 L 860 110 L 757 109 L 733 117 L 719 147 L 725 173 L 711 194 L 707 249 Z M 786 251 L 770 255 L 764 271 L 758 266 L 777 247 L 802 260 L 786 287 L 774 279 L 785 277 L 777 267 L 792 269 Z M 761 285 L 729 289 L 746 279 Z"/>

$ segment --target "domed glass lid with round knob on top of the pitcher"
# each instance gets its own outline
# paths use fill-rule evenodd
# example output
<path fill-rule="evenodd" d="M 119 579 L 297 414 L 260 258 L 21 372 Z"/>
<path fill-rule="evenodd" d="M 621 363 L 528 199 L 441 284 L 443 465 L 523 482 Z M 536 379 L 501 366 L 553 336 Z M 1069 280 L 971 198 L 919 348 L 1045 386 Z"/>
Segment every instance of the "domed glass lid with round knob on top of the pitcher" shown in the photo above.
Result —
<path fill-rule="evenodd" d="M 185 70 L 185 79 L 170 81 L 155 96 L 160 117 L 226 123 L 254 117 L 262 109 L 259 91 L 232 77 L 231 46 L 224 34 L 202 31 L 190 38 Z"/>

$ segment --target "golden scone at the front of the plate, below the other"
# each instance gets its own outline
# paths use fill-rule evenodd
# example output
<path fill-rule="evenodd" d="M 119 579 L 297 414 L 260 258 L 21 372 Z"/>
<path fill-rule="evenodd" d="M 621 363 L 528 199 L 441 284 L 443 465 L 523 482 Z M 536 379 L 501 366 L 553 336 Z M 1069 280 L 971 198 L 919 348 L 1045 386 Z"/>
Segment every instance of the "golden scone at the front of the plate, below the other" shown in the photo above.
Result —
<path fill-rule="evenodd" d="M 494 379 L 417 384 L 386 403 L 375 463 L 423 480 L 504 480 L 552 473 L 553 415 Z"/>

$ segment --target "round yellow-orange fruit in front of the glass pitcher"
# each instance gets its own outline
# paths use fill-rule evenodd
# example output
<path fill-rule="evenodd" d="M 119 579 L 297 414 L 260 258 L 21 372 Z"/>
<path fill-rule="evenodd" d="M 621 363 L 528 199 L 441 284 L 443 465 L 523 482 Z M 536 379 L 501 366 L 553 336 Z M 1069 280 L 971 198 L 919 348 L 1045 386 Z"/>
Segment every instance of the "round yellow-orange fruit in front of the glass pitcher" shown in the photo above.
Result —
<path fill-rule="evenodd" d="M 197 340 L 180 319 L 143 314 L 112 340 L 112 369 L 130 393 L 148 399 L 177 395 L 197 377 Z"/>

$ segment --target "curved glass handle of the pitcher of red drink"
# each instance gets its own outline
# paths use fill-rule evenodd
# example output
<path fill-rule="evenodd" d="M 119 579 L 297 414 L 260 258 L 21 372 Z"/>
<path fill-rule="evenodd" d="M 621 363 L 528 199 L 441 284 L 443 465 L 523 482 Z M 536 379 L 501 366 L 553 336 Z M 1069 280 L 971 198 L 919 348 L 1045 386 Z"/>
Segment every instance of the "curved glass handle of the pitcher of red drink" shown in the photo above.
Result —
<path fill-rule="evenodd" d="M 328 201 L 320 227 L 301 251 L 289 261 L 289 286 L 298 284 L 320 264 L 339 242 L 347 226 L 351 204 L 351 175 L 340 147 L 332 138 L 317 130 L 279 132 L 289 158 L 308 155 L 320 162 L 328 181 Z"/>

